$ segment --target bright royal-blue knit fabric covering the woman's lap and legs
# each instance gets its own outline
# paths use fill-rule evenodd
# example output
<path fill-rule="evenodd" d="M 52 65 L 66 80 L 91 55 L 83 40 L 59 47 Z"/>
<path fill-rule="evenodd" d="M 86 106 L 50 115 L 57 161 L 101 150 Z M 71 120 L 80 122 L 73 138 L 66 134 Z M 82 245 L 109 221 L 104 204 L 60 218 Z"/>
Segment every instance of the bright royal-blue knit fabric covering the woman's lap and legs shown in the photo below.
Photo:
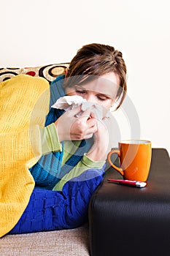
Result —
<path fill-rule="evenodd" d="M 79 227 L 88 220 L 90 197 L 104 176 L 101 170 L 86 170 L 72 178 L 62 192 L 34 189 L 26 211 L 9 234 L 33 233 Z"/>

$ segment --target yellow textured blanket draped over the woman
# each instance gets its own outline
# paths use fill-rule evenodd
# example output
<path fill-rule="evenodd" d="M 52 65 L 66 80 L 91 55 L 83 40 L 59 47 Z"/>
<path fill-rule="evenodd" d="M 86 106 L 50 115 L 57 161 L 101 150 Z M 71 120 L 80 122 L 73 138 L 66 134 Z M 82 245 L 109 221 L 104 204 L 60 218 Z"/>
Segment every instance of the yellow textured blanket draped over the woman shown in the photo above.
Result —
<path fill-rule="evenodd" d="M 28 168 L 42 156 L 39 127 L 49 101 L 43 78 L 18 75 L 0 83 L 0 237 L 16 225 L 34 189 Z"/>

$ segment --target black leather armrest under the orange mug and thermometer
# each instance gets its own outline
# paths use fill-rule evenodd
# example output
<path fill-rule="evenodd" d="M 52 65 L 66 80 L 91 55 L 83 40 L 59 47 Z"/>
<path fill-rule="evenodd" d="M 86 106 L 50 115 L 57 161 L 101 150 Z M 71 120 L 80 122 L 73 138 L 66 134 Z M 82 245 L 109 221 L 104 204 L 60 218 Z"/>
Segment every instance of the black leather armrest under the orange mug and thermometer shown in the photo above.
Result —
<path fill-rule="evenodd" d="M 170 159 L 152 149 L 147 187 L 112 184 L 122 178 L 109 168 L 90 200 L 90 255 L 170 255 Z"/>

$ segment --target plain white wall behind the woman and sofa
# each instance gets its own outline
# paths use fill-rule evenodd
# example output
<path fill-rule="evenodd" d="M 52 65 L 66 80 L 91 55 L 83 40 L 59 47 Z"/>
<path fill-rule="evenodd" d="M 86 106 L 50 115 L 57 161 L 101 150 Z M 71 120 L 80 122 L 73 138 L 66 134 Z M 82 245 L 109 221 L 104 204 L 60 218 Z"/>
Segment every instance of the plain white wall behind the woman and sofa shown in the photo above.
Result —
<path fill-rule="evenodd" d="M 90 42 L 121 50 L 132 109 L 129 117 L 124 103 L 115 113 L 121 138 L 132 133 L 170 151 L 169 0 L 8 0 L 0 8 L 0 67 L 70 61 Z"/>

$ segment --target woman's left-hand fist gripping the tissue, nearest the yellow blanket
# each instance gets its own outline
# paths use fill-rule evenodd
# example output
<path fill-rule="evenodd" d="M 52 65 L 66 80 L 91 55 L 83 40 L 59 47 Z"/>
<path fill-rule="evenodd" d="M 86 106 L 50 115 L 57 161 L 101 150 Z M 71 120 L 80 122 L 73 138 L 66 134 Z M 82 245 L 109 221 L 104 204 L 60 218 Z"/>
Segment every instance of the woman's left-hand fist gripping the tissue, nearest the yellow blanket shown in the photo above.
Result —
<path fill-rule="evenodd" d="M 80 112 L 81 107 L 74 108 L 63 113 L 55 121 L 60 141 L 88 139 L 97 131 L 97 120 L 93 117 L 90 108 L 85 110 L 81 116 L 76 117 Z"/>

